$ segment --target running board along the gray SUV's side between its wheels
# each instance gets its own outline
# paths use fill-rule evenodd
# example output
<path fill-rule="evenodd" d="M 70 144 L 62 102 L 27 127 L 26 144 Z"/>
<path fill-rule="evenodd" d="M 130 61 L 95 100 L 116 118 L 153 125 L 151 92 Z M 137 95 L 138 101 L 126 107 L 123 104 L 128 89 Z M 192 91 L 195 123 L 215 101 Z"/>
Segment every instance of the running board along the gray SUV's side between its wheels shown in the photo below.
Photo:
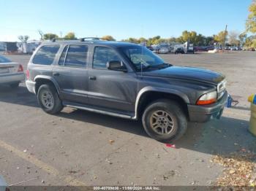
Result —
<path fill-rule="evenodd" d="M 73 107 L 73 108 L 76 108 L 76 109 L 89 111 L 89 112 L 95 112 L 95 113 L 98 113 L 98 114 L 107 114 L 107 115 L 110 115 L 110 116 L 113 116 L 113 117 L 121 117 L 121 118 L 124 118 L 124 119 L 135 120 L 135 117 L 130 115 L 130 114 L 123 114 L 123 113 L 119 113 L 119 112 L 106 111 L 106 110 L 94 108 L 92 106 L 72 104 L 72 103 L 69 103 L 69 102 L 63 102 L 63 105 Z"/>

